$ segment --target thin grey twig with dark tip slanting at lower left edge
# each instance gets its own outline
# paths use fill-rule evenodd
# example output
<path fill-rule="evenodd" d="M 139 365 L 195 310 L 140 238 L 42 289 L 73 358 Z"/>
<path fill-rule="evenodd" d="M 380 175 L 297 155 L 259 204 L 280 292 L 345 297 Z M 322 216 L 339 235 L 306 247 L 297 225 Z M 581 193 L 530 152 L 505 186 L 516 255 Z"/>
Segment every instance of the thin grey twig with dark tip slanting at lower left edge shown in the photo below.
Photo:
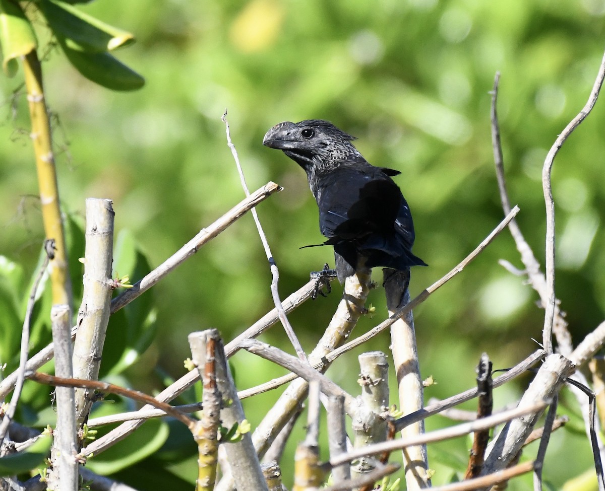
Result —
<path fill-rule="evenodd" d="M 30 343 L 30 325 L 31 325 L 31 313 L 34 310 L 34 304 L 36 304 L 36 291 L 38 291 L 38 286 L 42 281 L 42 276 L 46 272 L 46 268 L 48 266 L 48 262 L 50 261 L 50 256 L 48 255 L 47 244 L 49 241 L 45 241 L 44 247 L 47 250 L 47 254 L 44 256 L 44 261 L 42 261 L 42 265 L 38 272 L 38 276 L 34 280 L 34 284 L 31 285 L 30 296 L 27 299 L 27 308 L 25 310 L 25 319 L 23 320 L 23 328 L 21 330 L 21 354 L 19 355 L 19 368 L 15 371 L 15 392 L 13 393 L 13 397 L 10 400 L 10 404 L 4 413 L 4 417 L 2 418 L 2 422 L 0 423 L 0 446 L 4 442 L 4 437 L 6 436 L 6 432 L 8 431 L 8 425 L 10 421 L 13 419 L 15 415 L 15 410 L 17 409 L 17 404 L 19 403 L 19 397 L 21 397 L 21 389 L 23 388 L 23 382 L 25 380 L 25 371 L 27 370 L 27 354 L 29 350 Z M 54 241 L 50 242 L 50 250 L 53 249 Z M 2 394 L 2 398 L 5 394 Z"/>

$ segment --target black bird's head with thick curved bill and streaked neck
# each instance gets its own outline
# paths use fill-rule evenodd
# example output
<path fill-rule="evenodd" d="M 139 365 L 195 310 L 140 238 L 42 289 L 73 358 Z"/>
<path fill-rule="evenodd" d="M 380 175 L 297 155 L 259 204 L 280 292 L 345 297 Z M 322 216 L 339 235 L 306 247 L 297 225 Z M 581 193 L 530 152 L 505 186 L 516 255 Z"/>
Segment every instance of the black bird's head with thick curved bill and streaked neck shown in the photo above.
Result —
<path fill-rule="evenodd" d="M 307 172 L 361 157 L 351 143 L 355 137 L 329 121 L 284 121 L 264 135 L 263 145 L 281 150 Z"/>

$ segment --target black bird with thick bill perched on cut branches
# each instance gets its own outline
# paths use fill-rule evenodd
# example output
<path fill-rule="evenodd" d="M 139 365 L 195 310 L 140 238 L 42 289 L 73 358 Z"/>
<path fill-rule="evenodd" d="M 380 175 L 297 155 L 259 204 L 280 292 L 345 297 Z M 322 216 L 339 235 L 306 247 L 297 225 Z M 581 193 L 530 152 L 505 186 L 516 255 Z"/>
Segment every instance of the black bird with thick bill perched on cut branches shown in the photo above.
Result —
<path fill-rule="evenodd" d="M 317 245 L 334 247 L 339 281 L 358 268 L 380 266 L 389 268 L 385 287 L 393 276 L 404 294 L 410 266 L 427 264 L 411 252 L 410 207 L 391 179 L 401 172 L 368 163 L 354 139 L 328 121 L 286 121 L 267 131 L 263 145 L 283 151 L 307 173 L 327 238 Z"/>

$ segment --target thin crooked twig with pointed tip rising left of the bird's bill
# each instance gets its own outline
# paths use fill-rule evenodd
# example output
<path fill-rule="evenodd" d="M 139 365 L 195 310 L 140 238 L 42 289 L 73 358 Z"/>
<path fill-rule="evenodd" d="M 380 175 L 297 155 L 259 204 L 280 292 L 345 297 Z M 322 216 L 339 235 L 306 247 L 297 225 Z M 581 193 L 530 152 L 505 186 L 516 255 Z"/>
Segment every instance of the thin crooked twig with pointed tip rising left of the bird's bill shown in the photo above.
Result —
<path fill-rule="evenodd" d="M 225 109 L 225 112 L 223 114 L 223 123 L 225 123 L 225 132 L 227 134 L 227 146 L 229 146 L 229 148 L 231 149 L 231 153 L 233 154 L 233 158 L 235 160 L 235 166 L 237 166 L 237 171 L 240 174 L 241 187 L 244 188 L 246 196 L 250 196 L 250 191 L 248 190 L 248 186 L 246 184 L 246 177 L 244 177 L 244 171 L 241 168 L 240 158 L 237 155 L 237 149 L 235 149 L 235 145 L 231 141 L 231 131 L 229 130 L 229 122 L 227 122 L 227 109 Z M 275 308 L 278 311 L 281 324 L 283 325 L 284 330 L 286 330 L 286 334 L 290 338 L 290 342 L 292 343 L 292 346 L 294 346 L 294 350 L 296 351 L 298 357 L 301 360 L 307 361 L 307 355 L 304 353 L 301 343 L 299 342 L 298 337 L 296 337 L 296 333 L 292 329 L 292 325 L 290 325 L 290 321 L 286 316 L 286 312 L 284 312 L 283 305 L 281 305 L 280 291 L 278 290 L 278 285 L 280 282 L 280 271 L 277 268 L 275 259 L 273 259 L 273 254 L 271 253 L 269 242 L 267 241 L 267 236 L 265 235 L 263 226 L 261 225 L 261 222 L 258 219 L 257 210 L 255 208 L 252 208 L 250 212 L 252 213 L 252 218 L 254 218 L 254 223 L 257 225 L 258 235 L 260 235 L 261 242 L 263 242 L 265 254 L 267 255 L 267 259 L 269 260 L 271 275 L 273 277 L 271 281 L 271 294 L 273 296 L 273 303 L 275 304 Z"/>

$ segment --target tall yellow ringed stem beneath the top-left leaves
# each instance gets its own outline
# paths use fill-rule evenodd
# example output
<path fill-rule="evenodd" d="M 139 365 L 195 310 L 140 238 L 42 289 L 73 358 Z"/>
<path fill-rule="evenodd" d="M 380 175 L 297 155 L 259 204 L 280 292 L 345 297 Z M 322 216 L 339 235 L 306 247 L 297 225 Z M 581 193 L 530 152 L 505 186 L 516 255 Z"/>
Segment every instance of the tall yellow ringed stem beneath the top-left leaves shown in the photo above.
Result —
<path fill-rule="evenodd" d="M 23 57 L 27 102 L 31 118 L 31 141 L 36 155 L 36 171 L 40 190 L 42 221 L 48 239 L 54 239 L 56 248 L 50 261 L 50 279 L 53 305 L 69 305 L 73 308 L 71 280 L 65 249 L 65 232 L 59 203 L 59 187 L 54 165 L 54 153 L 50 131 L 50 120 L 44 99 L 42 67 L 36 50 Z M 71 317 L 71 316 L 70 316 Z"/>

